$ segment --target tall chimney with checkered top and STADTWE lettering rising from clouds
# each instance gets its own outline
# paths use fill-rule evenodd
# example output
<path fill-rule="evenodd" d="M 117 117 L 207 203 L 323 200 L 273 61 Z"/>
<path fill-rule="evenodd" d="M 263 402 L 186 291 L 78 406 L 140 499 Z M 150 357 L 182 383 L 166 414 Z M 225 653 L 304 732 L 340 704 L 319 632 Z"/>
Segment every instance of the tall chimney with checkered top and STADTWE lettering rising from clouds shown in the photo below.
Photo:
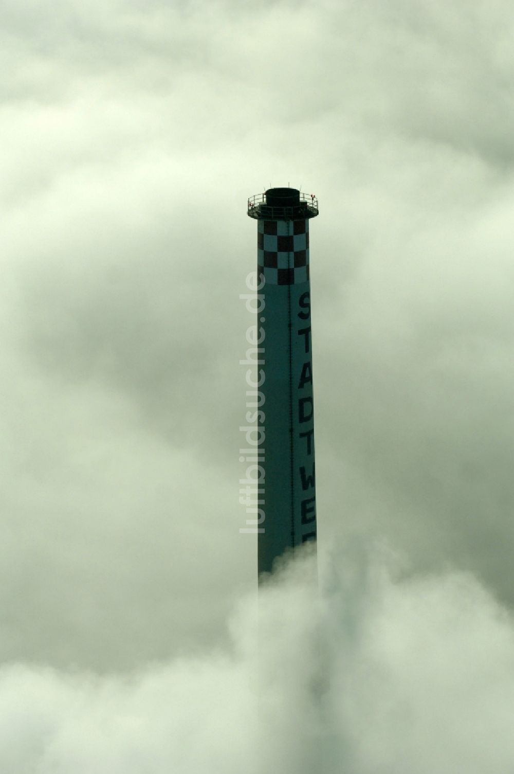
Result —
<path fill-rule="evenodd" d="M 262 302 L 255 379 L 263 401 L 259 578 L 287 550 L 316 539 L 309 221 L 317 214 L 316 197 L 295 188 L 248 199 L 248 215 L 257 221 Z"/>

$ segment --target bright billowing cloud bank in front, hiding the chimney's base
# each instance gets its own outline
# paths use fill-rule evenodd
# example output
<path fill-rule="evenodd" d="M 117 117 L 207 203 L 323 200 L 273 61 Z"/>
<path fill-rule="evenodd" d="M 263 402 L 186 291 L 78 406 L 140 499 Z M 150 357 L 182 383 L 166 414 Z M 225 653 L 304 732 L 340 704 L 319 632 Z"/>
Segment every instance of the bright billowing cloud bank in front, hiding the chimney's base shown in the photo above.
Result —
<path fill-rule="evenodd" d="M 319 597 L 309 560 L 261 594 L 259 660 L 252 595 L 225 652 L 102 679 L 4 666 L 0 762 L 22 774 L 508 770 L 512 617 L 471 576 L 395 579 L 362 545 L 344 559 L 324 565 Z"/>

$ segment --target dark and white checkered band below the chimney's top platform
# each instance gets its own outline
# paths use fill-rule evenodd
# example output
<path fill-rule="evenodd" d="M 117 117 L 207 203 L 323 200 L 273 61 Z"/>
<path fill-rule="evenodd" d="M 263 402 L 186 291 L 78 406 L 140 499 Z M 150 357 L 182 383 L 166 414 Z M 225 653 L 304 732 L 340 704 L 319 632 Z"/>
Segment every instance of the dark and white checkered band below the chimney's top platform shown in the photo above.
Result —
<path fill-rule="evenodd" d="M 270 285 L 309 279 L 309 221 L 257 221 L 257 272 Z"/>

